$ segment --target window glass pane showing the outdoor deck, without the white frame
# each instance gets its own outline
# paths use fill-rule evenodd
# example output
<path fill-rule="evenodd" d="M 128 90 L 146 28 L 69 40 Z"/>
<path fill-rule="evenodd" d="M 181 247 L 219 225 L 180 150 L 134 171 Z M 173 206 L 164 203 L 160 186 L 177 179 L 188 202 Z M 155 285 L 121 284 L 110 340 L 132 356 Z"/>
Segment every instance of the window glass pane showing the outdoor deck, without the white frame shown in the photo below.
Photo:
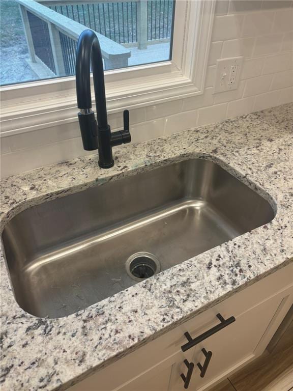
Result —
<path fill-rule="evenodd" d="M 75 74 L 76 43 L 97 32 L 104 69 L 171 60 L 174 0 L 1 0 L 1 85 Z"/>

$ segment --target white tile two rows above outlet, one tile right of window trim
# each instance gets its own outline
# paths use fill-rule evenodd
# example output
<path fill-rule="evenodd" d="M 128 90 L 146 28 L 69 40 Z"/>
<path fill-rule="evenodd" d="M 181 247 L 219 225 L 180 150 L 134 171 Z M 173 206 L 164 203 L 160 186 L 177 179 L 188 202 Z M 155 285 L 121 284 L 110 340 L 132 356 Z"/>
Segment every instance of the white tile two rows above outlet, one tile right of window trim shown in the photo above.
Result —
<path fill-rule="evenodd" d="M 272 29 L 274 12 L 257 12 L 245 16 L 243 37 L 256 37 L 269 34 Z"/>

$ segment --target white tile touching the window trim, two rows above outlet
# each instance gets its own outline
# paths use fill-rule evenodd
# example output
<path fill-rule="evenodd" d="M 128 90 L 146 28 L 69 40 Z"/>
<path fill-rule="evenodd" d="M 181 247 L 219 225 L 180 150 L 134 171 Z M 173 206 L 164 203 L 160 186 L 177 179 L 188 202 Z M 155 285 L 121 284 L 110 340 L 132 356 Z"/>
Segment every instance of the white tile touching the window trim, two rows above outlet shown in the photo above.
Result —
<path fill-rule="evenodd" d="M 243 15 L 216 16 L 214 20 L 212 41 L 224 41 L 241 36 Z"/>

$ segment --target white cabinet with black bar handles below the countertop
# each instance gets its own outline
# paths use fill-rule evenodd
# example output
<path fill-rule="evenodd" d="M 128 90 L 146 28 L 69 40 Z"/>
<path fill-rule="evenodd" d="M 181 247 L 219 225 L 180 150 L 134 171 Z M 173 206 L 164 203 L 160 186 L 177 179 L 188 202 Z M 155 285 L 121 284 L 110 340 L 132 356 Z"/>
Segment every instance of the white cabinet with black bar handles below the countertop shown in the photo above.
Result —
<path fill-rule="evenodd" d="M 184 360 L 194 369 L 188 389 L 203 391 L 260 355 L 293 303 L 293 264 L 216 304 L 133 353 L 70 388 L 70 391 L 183 391 Z M 235 317 L 187 351 L 181 347 L 221 324 L 217 318 Z M 222 324 L 224 325 L 224 324 Z M 197 364 L 212 352 L 206 374 Z"/>

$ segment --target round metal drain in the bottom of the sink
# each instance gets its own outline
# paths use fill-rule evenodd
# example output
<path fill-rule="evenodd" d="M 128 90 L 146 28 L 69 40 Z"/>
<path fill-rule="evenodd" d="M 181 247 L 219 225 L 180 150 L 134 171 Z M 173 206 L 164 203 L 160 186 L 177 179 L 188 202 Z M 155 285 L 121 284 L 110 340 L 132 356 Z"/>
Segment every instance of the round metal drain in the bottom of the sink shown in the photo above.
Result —
<path fill-rule="evenodd" d="M 135 253 L 126 261 L 126 271 L 128 275 L 136 281 L 145 280 L 161 270 L 161 265 L 151 253 Z"/>

